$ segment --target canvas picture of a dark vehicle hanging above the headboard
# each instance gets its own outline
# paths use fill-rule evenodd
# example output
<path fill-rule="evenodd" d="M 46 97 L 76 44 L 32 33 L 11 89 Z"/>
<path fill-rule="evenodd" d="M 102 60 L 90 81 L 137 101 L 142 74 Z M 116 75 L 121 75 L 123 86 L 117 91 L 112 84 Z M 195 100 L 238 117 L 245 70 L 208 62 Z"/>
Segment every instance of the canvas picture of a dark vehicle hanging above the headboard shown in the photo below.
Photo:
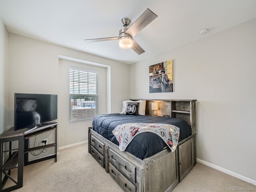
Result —
<path fill-rule="evenodd" d="M 149 66 L 149 92 L 172 92 L 173 60 Z"/>

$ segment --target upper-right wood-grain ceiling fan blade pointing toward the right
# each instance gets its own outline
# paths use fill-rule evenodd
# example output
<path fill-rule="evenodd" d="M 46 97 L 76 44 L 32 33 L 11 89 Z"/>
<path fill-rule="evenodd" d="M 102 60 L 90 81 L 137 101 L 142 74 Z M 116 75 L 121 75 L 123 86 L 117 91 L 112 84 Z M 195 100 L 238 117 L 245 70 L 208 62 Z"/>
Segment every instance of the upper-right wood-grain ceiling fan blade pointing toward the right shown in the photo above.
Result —
<path fill-rule="evenodd" d="M 134 37 L 138 32 L 140 32 L 144 27 L 150 24 L 157 15 L 154 14 L 152 11 L 147 9 L 141 16 L 128 28 L 125 32 L 126 34 Z"/>

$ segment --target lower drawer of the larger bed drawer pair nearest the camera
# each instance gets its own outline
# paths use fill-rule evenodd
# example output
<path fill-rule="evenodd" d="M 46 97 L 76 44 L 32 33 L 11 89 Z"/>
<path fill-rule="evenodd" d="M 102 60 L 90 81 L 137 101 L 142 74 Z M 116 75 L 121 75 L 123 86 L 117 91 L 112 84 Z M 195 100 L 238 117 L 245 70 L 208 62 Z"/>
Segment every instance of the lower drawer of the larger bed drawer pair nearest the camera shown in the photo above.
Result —
<path fill-rule="evenodd" d="M 109 164 L 109 174 L 125 192 L 136 192 L 136 186 L 123 176 L 111 163 Z"/>

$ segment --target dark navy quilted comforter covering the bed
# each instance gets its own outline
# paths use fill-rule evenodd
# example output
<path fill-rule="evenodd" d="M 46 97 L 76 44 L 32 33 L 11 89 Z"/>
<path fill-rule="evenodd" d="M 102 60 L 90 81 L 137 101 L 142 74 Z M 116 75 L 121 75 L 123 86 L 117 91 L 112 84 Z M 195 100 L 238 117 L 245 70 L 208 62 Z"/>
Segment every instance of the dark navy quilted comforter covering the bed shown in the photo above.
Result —
<path fill-rule="evenodd" d="M 92 119 L 92 130 L 119 145 L 118 140 L 112 133 L 112 130 L 123 123 L 163 123 L 172 124 L 180 128 L 179 141 L 191 135 L 191 128 L 188 123 L 182 119 L 161 117 L 161 116 L 133 116 L 124 114 L 105 114 L 94 116 Z M 130 142 L 126 151 L 134 156 L 144 159 L 152 156 L 166 147 L 166 143 L 157 134 L 145 132 L 138 134 Z"/>

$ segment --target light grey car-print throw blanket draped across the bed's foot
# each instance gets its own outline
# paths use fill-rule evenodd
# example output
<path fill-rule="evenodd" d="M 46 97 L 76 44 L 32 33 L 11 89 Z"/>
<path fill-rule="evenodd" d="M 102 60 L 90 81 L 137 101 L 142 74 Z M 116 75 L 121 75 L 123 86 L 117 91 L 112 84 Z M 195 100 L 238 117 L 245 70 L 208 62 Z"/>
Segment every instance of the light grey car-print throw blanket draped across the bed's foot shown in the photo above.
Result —
<path fill-rule="evenodd" d="M 132 139 L 142 132 L 152 132 L 164 140 L 172 152 L 177 147 L 180 129 L 170 124 L 124 123 L 112 131 L 119 142 L 119 149 L 124 151 Z"/>

